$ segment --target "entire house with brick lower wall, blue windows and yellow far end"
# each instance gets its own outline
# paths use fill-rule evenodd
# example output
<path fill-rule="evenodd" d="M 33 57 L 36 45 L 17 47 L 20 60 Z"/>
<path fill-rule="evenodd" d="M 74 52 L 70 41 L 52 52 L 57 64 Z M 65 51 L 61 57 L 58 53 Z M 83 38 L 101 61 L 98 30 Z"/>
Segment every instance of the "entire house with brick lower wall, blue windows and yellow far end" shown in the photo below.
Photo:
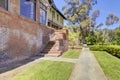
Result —
<path fill-rule="evenodd" d="M 55 5 L 51 5 L 52 2 L 0 0 L 0 64 L 23 60 L 42 52 L 55 35 L 59 37 L 54 40 L 53 49 L 60 53 L 67 50 L 67 31 L 56 30 L 62 29 L 65 17 Z M 49 9 L 55 12 L 52 20 Z"/>

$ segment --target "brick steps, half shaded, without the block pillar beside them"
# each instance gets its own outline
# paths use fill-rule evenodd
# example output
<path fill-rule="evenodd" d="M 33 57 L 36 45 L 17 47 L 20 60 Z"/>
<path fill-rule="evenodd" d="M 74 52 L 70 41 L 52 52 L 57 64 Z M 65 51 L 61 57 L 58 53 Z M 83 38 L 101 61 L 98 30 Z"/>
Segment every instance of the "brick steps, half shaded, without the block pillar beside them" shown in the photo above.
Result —
<path fill-rule="evenodd" d="M 47 46 L 44 48 L 44 50 L 41 52 L 42 55 L 47 57 L 58 57 L 61 54 L 61 51 L 57 50 L 57 47 L 55 46 L 55 41 L 50 41 Z"/>

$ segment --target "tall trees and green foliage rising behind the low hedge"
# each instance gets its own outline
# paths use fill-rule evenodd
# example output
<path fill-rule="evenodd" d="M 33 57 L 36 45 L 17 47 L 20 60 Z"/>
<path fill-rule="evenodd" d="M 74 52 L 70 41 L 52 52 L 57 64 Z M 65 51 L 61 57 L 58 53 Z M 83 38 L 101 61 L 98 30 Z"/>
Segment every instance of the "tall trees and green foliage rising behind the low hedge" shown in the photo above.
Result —
<path fill-rule="evenodd" d="M 119 21 L 115 14 L 109 14 L 105 21 L 107 27 L 99 29 L 103 26 L 103 23 L 96 24 L 100 11 L 95 10 L 91 13 L 91 9 L 97 4 L 97 0 L 65 0 L 65 2 L 66 5 L 63 6 L 64 14 L 69 20 L 69 24 L 74 25 L 71 30 L 78 33 L 77 37 L 81 40 L 80 42 L 120 45 L 120 29 L 108 28 Z"/>

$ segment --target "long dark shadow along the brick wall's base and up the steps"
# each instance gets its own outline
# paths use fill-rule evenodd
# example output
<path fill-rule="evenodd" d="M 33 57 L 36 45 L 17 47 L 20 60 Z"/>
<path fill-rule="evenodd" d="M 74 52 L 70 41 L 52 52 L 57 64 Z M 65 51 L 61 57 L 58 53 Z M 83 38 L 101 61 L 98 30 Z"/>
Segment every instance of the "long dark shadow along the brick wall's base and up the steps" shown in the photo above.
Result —
<path fill-rule="evenodd" d="M 38 58 L 44 57 L 44 56 L 50 51 L 50 49 L 53 47 L 54 44 L 55 44 L 55 43 L 54 43 L 53 41 L 50 41 L 50 42 L 47 44 L 47 46 L 43 49 L 43 51 L 41 51 L 41 53 L 43 53 L 43 54 L 40 54 L 40 53 L 39 53 L 39 54 L 36 54 L 36 55 L 31 56 L 31 57 L 29 57 L 29 58 L 26 58 L 26 59 L 24 59 L 24 60 L 21 60 L 21 61 L 11 62 L 11 63 L 9 63 L 9 64 L 0 65 L 0 74 L 1 74 L 1 73 L 4 73 L 4 72 L 7 72 L 7 71 L 10 71 L 10 70 L 12 70 L 12 69 L 15 69 L 15 68 L 17 68 L 17 67 L 20 67 L 20 66 L 22 66 L 22 65 L 25 65 L 25 64 L 27 64 L 27 63 L 29 63 L 29 62 L 32 62 L 32 61 L 34 61 L 34 60 L 36 60 L 36 59 L 38 59 Z M 45 49 L 49 49 L 48 52 L 45 53 L 45 52 L 44 52 Z"/>

